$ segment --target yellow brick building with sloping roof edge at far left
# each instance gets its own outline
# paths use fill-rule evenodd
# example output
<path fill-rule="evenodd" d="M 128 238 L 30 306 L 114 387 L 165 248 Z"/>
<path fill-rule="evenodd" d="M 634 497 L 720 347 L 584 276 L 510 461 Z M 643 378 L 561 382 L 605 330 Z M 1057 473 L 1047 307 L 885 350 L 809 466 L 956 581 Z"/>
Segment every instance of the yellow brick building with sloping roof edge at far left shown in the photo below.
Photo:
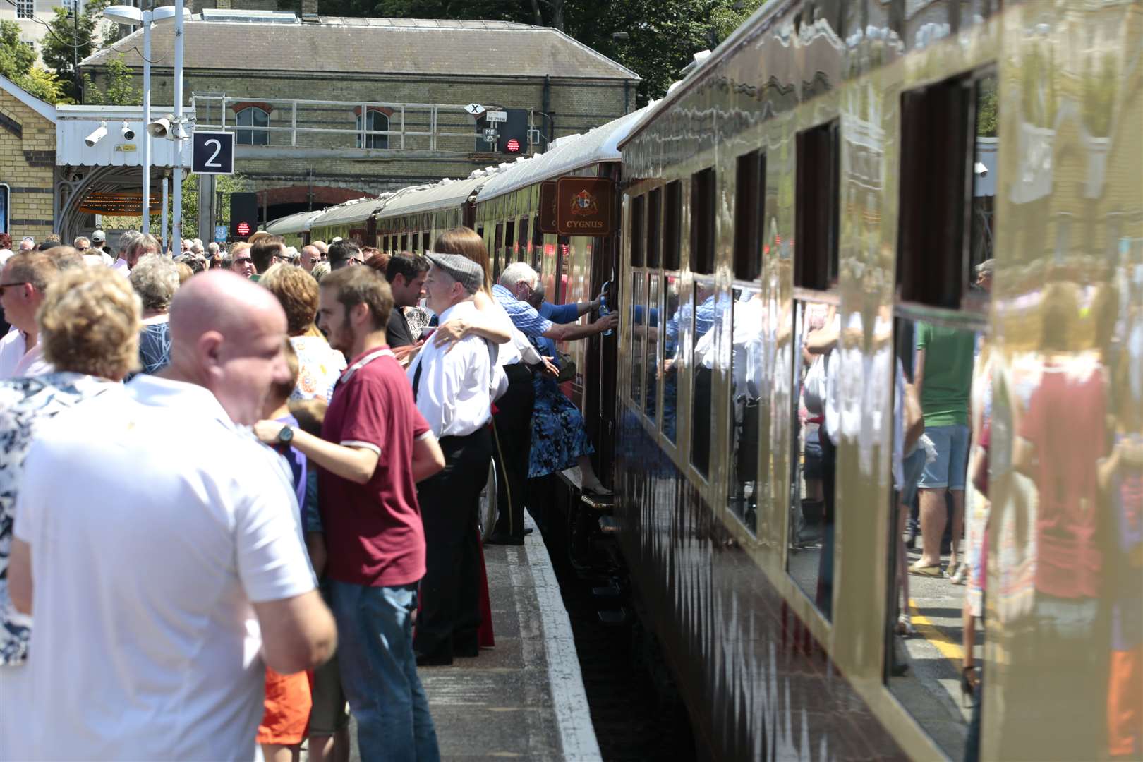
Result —
<path fill-rule="evenodd" d="M 56 109 L 0 77 L 0 233 L 53 232 Z"/>

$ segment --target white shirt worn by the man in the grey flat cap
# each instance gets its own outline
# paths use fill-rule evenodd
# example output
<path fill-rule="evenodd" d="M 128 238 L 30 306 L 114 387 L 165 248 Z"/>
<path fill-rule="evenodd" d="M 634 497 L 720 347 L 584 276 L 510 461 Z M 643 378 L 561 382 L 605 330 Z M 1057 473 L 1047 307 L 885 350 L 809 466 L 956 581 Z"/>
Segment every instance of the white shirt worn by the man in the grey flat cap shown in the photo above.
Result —
<path fill-rule="evenodd" d="M 472 299 L 459 302 L 440 314 L 440 324 L 475 314 Z M 425 342 L 407 372 L 417 409 L 438 439 L 467 436 L 488 423 L 493 367 L 491 347 L 479 336 L 467 336 L 451 348 Z"/>

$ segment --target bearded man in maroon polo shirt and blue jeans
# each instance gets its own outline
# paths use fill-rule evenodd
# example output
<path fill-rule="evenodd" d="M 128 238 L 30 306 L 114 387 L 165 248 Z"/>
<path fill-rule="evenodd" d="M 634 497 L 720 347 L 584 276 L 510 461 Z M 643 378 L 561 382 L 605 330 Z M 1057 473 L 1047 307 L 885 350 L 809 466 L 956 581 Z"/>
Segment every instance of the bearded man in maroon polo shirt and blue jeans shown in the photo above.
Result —
<path fill-rule="evenodd" d="M 385 344 L 393 296 L 370 267 L 321 281 L 318 320 L 350 358 L 321 438 L 261 422 L 264 442 L 291 443 L 320 466 L 329 551 L 326 576 L 341 636 L 342 685 L 365 760 L 439 760 L 413 652 L 413 612 L 425 573 L 416 482 L 445 467 L 413 390 Z"/>

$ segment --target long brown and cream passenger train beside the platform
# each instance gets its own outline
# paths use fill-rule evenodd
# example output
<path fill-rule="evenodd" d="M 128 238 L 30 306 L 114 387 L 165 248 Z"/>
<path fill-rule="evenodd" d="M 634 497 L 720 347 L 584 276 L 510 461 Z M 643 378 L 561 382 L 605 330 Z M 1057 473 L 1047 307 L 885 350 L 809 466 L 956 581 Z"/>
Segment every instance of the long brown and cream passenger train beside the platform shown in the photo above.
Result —
<path fill-rule="evenodd" d="M 423 251 L 464 224 L 550 300 L 606 287 L 620 327 L 566 347 L 566 391 L 616 500 L 563 476 L 537 507 L 616 538 L 700 756 L 1141 759 L 1141 51 L 1138 2 L 778 0 L 639 112 L 289 225 Z M 607 235 L 539 232 L 576 175 L 618 190 Z M 986 487 L 929 488 L 965 587 L 902 572 L 936 334 L 974 458 L 990 434 Z"/>

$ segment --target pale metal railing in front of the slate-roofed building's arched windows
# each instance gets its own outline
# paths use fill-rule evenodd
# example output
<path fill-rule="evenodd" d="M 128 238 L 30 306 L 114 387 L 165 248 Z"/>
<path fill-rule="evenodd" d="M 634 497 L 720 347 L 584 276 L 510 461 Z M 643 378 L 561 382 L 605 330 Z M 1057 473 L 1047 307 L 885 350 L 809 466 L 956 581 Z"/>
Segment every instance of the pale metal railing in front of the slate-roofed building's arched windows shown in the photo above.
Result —
<path fill-rule="evenodd" d="M 242 107 L 235 111 L 235 104 Z M 239 145 L 471 153 L 475 146 L 474 141 L 480 137 L 474 121 L 463 105 L 384 101 L 255 99 L 216 93 L 193 93 L 191 105 L 198 114 L 197 129 L 235 131 Z M 237 123 L 238 115 L 251 106 L 265 113 L 267 118 L 265 126 Z M 266 112 L 262 106 L 269 106 L 270 111 Z M 369 129 L 374 120 L 365 114 L 370 113 L 384 114 L 389 129 Z M 288 120 L 288 125 L 282 125 L 283 120 Z M 352 129 L 346 127 L 346 123 L 353 126 Z M 265 135 L 265 138 L 256 139 L 261 135 Z"/>

